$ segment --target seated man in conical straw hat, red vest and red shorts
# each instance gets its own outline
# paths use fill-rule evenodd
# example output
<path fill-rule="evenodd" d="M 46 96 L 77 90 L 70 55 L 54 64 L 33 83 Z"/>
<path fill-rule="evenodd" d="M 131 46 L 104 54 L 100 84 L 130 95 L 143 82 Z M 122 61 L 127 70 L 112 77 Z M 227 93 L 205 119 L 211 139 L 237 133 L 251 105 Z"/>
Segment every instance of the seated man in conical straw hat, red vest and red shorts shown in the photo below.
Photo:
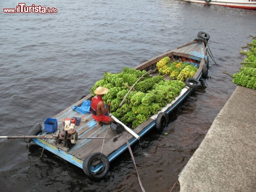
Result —
<path fill-rule="evenodd" d="M 108 89 L 104 87 L 98 87 L 97 89 L 95 89 L 94 93 L 96 94 L 96 96 L 91 99 L 90 112 L 92 113 L 93 119 L 95 119 L 95 121 L 97 122 L 97 125 L 101 126 L 101 123 L 110 124 L 111 122 L 115 121 L 114 119 L 105 115 L 109 113 L 110 102 L 106 104 L 105 108 L 102 97 L 106 93 L 108 93 Z"/>

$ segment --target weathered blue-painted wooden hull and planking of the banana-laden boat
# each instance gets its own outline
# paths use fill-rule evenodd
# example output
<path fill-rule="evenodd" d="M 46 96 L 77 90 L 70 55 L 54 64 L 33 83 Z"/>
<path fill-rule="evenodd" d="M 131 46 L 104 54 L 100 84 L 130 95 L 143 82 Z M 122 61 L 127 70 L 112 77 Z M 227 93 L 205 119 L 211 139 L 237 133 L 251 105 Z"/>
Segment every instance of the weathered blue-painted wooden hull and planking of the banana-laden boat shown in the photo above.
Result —
<path fill-rule="evenodd" d="M 196 60 L 198 65 L 198 70 L 194 74 L 193 78 L 199 80 L 203 73 L 203 66 L 206 64 L 206 60 L 208 60 L 207 50 L 206 50 L 206 42 L 194 40 L 190 43 L 187 43 L 183 46 L 180 46 L 174 50 L 168 51 L 161 55 L 156 56 L 150 60 L 147 60 L 140 65 L 136 66 L 136 70 L 146 70 L 151 71 L 156 69 L 156 63 L 160 61 L 162 58 L 169 57 L 171 61 L 176 61 L 181 57 L 190 58 Z M 158 71 L 153 72 L 153 76 L 158 76 Z M 165 80 L 170 80 L 170 76 L 165 76 Z M 139 126 L 135 127 L 133 131 L 138 134 L 138 136 L 142 137 L 151 129 L 156 126 L 156 119 L 158 114 L 170 114 L 172 113 L 183 101 L 187 98 L 187 96 L 191 93 L 193 88 L 190 86 L 185 86 L 180 94 L 176 96 L 176 98 L 171 101 L 171 103 L 166 104 L 157 114 L 151 116 L 149 119 L 141 123 Z M 128 149 L 128 145 L 126 143 L 126 139 L 129 144 L 132 145 L 138 139 L 133 137 L 129 132 L 124 131 L 122 135 L 117 134 L 112 129 L 109 129 L 109 125 L 103 124 L 102 126 L 97 126 L 96 121 L 92 118 L 91 113 L 79 113 L 74 111 L 74 106 L 81 106 L 84 101 L 91 100 L 93 97 L 92 94 L 88 94 L 84 98 L 80 99 L 76 103 L 72 104 L 53 118 L 58 120 L 58 129 L 63 129 L 62 120 L 65 118 L 78 117 L 81 119 L 86 119 L 87 121 L 81 121 L 78 126 L 75 126 L 76 132 L 78 134 L 78 138 L 86 138 L 86 137 L 106 137 L 104 141 L 102 139 L 81 139 L 78 140 L 77 143 L 69 148 L 63 145 L 63 142 L 58 143 L 53 139 L 38 139 L 35 138 L 32 141 L 35 144 L 45 148 L 46 150 L 52 152 L 53 154 L 65 159 L 66 161 L 74 164 L 81 169 L 84 169 L 84 162 L 86 157 L 93 153 L 103 152 L 103 154 L 107 157 L 108 161 L 113 161 L 116 157 L 118 157 L 122 152 Z M 42 128 L 44 130 L 44 128 Z M 43 131 L 42 134 L 47 134 L 47 132 Z M 97 164 L 95 167 L 91 169 L 91 172 L 98 172 L 103 167 L 103 165 Z M 85 170 L 84 170 L 85 171 Z"/>

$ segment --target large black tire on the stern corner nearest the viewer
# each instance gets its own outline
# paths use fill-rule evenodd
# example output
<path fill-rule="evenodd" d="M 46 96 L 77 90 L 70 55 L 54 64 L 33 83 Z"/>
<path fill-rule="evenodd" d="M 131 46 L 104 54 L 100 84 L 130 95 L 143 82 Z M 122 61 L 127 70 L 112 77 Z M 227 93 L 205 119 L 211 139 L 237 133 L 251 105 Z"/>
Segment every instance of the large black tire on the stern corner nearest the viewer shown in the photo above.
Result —
<path fill-rule="evenodd" d="M 103 167 L 101 168 L 101 170 L 94 173 L 91 171 L 91 165 L 93 162 L 99 160 L 102 162 Z M 85 157 L 83 161 L 83 172 L 85 172 L 85 174 L 92 179 L 100 180 L 104 178 L 108 173 L 109 169 L 110 163 L 108 161 L 108 157 L 106 157 L 103 153 L 100 152 L 89 154 L 88 156 Z"/>

